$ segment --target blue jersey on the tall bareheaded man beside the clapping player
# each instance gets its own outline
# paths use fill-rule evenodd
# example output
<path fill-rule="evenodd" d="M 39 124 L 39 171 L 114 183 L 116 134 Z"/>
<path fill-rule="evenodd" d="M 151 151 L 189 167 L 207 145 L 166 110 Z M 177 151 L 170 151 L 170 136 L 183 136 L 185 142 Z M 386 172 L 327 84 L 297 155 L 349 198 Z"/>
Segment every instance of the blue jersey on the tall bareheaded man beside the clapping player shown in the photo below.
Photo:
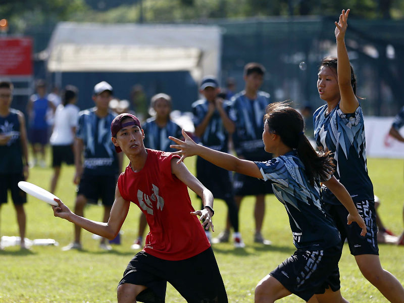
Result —
<path fill-rule="evenodd" d="M 232 97 L 230 116 L 237 121 L 233 143 L 238 156 L 255 160 L 271 159 L 262 141 L 265 109 L 270 103 L 271 97 L 264 91 L 258 91 L 254 100 L 248 99 L 244 90 Z"/>

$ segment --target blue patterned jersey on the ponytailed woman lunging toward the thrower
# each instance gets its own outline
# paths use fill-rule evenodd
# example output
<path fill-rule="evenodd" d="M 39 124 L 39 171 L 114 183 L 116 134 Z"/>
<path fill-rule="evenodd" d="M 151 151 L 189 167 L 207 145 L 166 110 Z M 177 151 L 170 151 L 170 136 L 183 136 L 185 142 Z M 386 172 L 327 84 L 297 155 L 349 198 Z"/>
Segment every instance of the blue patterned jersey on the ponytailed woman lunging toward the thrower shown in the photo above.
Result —
<path fill-rule="evenodd" d="M 339 232 L 321 207 L 319 185 L 309 183 L 296 151 L 255 163 L 285 206 L 296 248 L 318 250 L 339 243 Z"/>

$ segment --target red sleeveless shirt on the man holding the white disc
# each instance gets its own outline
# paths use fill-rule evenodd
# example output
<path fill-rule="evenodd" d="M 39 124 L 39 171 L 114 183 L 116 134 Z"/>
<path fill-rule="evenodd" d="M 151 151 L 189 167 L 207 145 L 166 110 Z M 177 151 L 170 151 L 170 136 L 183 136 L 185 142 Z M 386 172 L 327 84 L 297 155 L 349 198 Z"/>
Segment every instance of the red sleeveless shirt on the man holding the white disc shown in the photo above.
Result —
<path fill-rule="evenodd" d="M 184 260 L 200 254 L 211 244 L 198 217 L 190 212 L 187 186 L 171 172 L 171 159 L 165 151 L 148 149 L 141 171 L 130 164 L 118 179 L 121 196 L 136 204 L 146 215 L 150 232 L 143 251 L 164 260 Z"/>

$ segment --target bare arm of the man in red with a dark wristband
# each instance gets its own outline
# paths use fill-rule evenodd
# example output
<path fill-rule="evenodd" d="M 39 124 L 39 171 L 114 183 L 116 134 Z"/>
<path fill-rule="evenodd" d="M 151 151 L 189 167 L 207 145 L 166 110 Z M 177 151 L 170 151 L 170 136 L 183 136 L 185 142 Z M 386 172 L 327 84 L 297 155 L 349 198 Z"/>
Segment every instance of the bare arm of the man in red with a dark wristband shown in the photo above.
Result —
<path fill-rule="evenodd" d="M 204 207 L 209 206 L 213 209 L 212 192 L 208 188 L 206 188 L 202 183 L 200 183 L 200 181 L 189 172 L 184 163 L 182 162 L 177 163 L 177 160 L 175 158 L 172 158 L 171 171 L 179 180 L 181 180 L 194 193 L 196 193 L 198 196 L 202 198 L 202 203 Z M 204 220 L 202 224 L 205 226 L 207 230 L 209 229 L 209 227 L 212 227 L 212 231 L 215 231 L 211 219 L 213 213 L 209 208 L 204 208 L 203 210 L 192 212 L 191 214 L 200 216 L 200 220 Z"/>

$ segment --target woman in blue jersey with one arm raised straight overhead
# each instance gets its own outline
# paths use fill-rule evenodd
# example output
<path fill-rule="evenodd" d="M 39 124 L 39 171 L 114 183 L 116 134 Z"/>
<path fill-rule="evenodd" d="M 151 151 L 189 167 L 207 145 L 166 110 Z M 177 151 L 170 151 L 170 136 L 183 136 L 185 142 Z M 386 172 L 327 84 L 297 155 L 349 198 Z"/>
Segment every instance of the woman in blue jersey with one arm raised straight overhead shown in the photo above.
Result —
<path fill-rule="evenodd" d="M 323 188 L 323 203 L 341 233 L 348 240 L 365 278 L 391 302 L 404 302 L 404 289 L 381 267 L 377 246 L 373 185 L 368 175 L 365 129 L 361 106 L 356 97 L 356 79 L 345 47 L 349 10 L 335 22 L 337 58 L 325 58 L 318 73 L 317 88 L 327 104 L 314 113 L 314 135 L 320 150 L 330 151 L 336 165 L 335 177 L 346 187 L 367 225 L 366 237 L 358 227 L 346 226 L 347 212 L 329 189 Z"/>

